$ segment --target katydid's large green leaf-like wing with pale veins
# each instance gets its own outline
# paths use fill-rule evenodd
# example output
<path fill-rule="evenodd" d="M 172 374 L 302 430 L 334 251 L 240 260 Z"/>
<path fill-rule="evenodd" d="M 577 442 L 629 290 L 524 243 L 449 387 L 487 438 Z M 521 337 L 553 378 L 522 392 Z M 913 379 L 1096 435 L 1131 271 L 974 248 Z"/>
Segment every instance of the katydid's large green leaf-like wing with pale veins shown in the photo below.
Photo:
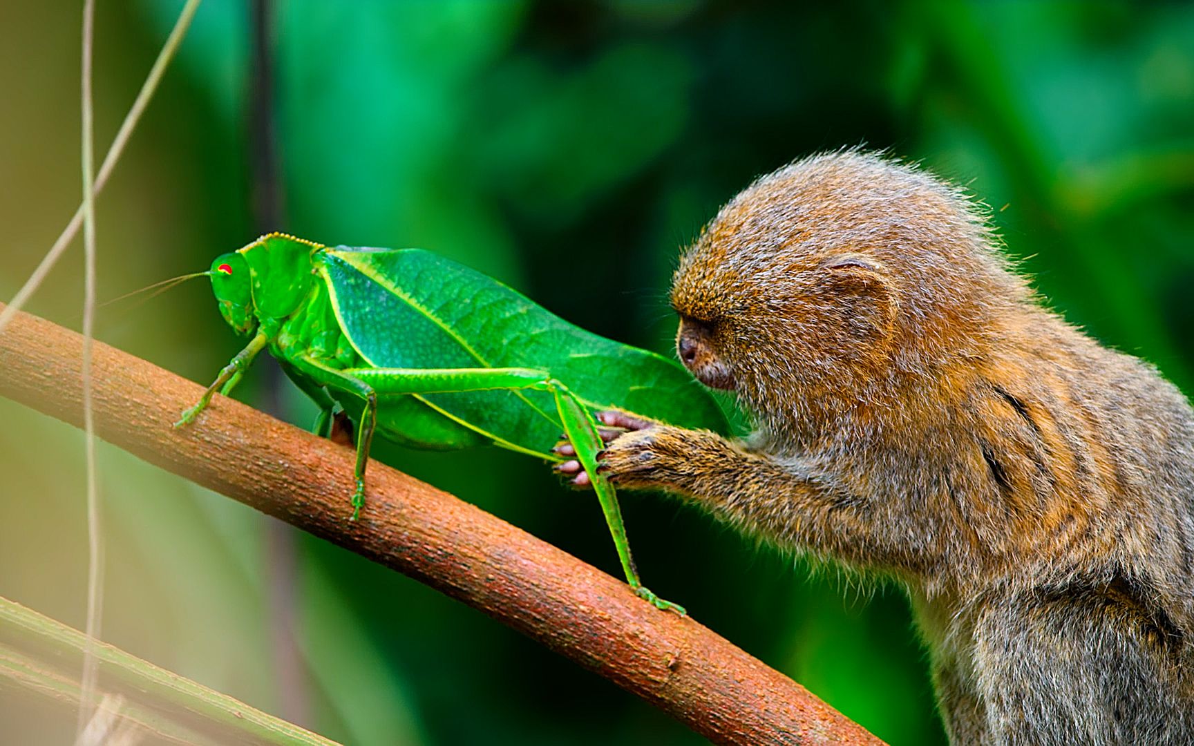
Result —
<path fill-rule="evenodd" d="M 587 407 L 725 431 L 718 403 L 679 364 L 586 332 L 475 270 L 421 249 L 339 246 L 315 257 L 341 327 L 377 368 L 530 368 Z M 552 394 L 419 396 L 443 418 L 515 450 L 546 455 L 561 432 Z M 421 421 L 421 420 L 420 420 Z M 433 444 L 419 421 L 382 415 L 399 439 Z"/>

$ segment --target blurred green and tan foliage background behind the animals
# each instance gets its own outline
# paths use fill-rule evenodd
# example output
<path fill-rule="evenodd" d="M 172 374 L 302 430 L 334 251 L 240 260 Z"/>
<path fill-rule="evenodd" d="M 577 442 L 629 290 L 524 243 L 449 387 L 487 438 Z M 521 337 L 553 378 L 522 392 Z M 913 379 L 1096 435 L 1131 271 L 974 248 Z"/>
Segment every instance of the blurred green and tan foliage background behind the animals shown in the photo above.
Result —
<path fill-rule="evenodd" d="M 2 298 L 79 201 L 80 5 L 0 0 Z M 99 2 L 100 153 L 180 5 Z M 719 204 L 866 143 L 968 185 L 1051 304 L 1194 390 L 1190 5 L 267 6 L 265 98 L 250 4 L 199 10 L 99 199 L 101 300 L 278 228 L 431 248 L 667 352 L 671 267 Z M 31 310 L 78 327 L 80 253 Z M 240 347 L 202 280 L 99 323 L 202 382 Z M 309 424 L 269 365 L 239 392 Z M 0 420 L 0 594 L 81 628 L 81 436 L 4 400 Z M 381 451 L 618 574 L 596 503 L 535 461 Z M 351 744 L 701 742 L 490 618 L 116 449 L 100 480 L 104 639 L 172 671 Z M 943 740 L 897 588 L 811 571 L 670 500 L 623 510 L 652 588 L 892 744 Z M 0 690 L 0 740 L 64 742 L 73 715 L 47 707 Z"/>

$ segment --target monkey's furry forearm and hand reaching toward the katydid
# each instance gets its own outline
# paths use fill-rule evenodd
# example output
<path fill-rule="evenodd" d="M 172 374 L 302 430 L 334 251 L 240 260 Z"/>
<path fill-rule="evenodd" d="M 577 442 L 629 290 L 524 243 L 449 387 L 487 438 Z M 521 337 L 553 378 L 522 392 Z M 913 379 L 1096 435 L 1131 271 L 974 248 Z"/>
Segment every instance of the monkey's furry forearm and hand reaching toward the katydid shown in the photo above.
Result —
<path fill-rule="evenodd" d="M 709 431 L 642 425 L 614 438 L 601 456 L 598 470 L 618 487 L 682 495 L 789 547 L 862 563 L 927 560 L 912 556 L 925 544 L 909 536 L 910 517 L 888 514 L 898 505 L 876 505 L 800 460 L 780 462 Z"/>

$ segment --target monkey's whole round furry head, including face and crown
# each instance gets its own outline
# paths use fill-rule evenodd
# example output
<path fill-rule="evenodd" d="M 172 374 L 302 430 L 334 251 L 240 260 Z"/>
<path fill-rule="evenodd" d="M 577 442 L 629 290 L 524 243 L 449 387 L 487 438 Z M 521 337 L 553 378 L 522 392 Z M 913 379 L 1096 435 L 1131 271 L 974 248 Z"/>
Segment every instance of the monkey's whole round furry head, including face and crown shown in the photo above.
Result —
<path fill-rule="evenodd" d="M 876 154 L 813 155 L 730 201 L 681 258 L 681 358 L 764 423 L 881 406 L 986 347 L 1028 301 L 960 189 Z"/>

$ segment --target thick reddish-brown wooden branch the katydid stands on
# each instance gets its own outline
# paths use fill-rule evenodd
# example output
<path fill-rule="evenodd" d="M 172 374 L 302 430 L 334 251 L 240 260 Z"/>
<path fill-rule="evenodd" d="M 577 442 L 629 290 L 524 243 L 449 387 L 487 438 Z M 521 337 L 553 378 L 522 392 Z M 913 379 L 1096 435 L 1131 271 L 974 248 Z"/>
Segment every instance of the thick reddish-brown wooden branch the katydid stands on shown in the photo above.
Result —
<path fill-rule="evenodd" d="M 78 425 L 80 349 L 74 332 L 19 314 L 0 333 L 0 394 Z M 468 503 L 374 462 L 350 523 L 350 449 L 221 396 L 176 430 L 202 389 L 106 345 L 94 376 L 110 443 L 460 599 L 715 742 L 880 742 L 691 618 Z"/>

